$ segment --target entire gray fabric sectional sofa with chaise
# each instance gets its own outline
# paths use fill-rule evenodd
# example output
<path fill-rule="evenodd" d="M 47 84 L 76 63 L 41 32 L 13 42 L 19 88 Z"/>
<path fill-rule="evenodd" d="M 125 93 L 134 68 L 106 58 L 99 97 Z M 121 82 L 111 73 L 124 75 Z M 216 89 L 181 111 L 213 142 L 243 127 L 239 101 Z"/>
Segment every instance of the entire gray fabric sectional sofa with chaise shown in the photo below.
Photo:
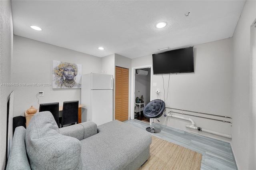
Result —
<path fill-rule="evenodd" d="M 58 128 L 48 111 L 36 113 L 27 129 L 17 127 L 7 170 L 136 170 L 150 154 L 146 130 L 111 121 Z"/>

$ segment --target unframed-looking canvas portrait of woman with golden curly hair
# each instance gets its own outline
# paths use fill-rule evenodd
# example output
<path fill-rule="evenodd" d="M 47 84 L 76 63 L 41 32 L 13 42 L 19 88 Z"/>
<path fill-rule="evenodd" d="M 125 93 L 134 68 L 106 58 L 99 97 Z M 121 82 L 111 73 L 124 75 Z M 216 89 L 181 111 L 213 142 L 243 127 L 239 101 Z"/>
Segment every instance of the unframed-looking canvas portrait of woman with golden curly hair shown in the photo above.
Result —
<path fill-rule="evenodd" d="M 52 88 L 81 88 L 82 65 L 63 61 L 52 62 Z"/>

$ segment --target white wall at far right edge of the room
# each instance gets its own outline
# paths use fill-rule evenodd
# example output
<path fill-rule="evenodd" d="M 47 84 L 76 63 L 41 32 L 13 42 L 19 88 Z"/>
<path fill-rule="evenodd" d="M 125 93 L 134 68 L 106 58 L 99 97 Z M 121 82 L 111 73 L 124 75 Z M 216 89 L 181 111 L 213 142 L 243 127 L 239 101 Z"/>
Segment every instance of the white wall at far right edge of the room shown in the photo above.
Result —
<path fill-rule="evenodd" d="M 250 84 L 252 79 L 250 77 L 250 26 L 255 19 L 256 1 L 247 0 L 233 36 L 232 148 L 239 169 L 256 169 L 255 140 L 253 140 L 256 136 L 254 128 L 256 115 L 255 112 L 252 113 L 252 107 L 256 104 L 249 105 L 250 86 L 255 86 Z M 251 131 L 251 128 L 254 129 Z"/>

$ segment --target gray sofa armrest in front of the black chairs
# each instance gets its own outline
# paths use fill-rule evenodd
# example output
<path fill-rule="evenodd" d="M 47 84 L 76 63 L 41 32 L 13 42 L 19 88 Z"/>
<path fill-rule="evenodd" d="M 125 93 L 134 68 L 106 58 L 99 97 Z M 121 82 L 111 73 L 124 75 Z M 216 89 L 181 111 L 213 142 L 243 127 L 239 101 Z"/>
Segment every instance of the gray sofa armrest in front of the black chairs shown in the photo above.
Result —
<path fill-rule="evenodd" d="M 94 122 L 83 122 L 76 125 L 71 125 L 59 128 L 60 133 L 66 136 L 71 136 L 82 140 L 94 134 L 97 134 L 97 125 Z"/>

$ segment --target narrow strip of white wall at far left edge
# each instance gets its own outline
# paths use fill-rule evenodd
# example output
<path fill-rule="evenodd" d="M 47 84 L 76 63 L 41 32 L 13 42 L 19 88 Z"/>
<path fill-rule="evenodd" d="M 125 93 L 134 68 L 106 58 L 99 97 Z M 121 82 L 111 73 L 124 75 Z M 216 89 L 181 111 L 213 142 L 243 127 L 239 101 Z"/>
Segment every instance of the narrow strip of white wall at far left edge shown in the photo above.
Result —
<path fill-rule="evenodd" d="M 10 0 L 0 1 L 0 83 L 12 83 L 12 6 Z M 5 167 L 7 100 L 13 87 L 0 86 L 0 169 Z"/>

